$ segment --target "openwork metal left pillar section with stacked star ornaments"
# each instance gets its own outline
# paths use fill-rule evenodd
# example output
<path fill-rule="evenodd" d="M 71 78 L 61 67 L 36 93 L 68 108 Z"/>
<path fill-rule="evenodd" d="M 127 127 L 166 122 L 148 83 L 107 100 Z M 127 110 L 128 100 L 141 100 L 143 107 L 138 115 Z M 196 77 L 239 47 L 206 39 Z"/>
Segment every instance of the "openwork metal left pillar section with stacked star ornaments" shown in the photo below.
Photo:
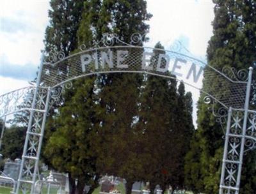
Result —
<path fill-rule="evenodd" d="M 36 177 L 36 162 L 38 162 L 40 152 L 40 141 L 44 131 L 42 126 L 45 123 L 45 118 L 48 110 L 47 101 L 49 101 L 50 91 L 45 88 L 38 88 L 35 98 L 35 104 L 32 103 L 30 111 L 30 119 L 28 124 L 28 130 L 26 134 L 26 147 L 22 155 L 21 174 L 19 175 L 19 181 L 17 189 L 22 193 L 28 193 L 33 188 Z M 47 100 L 48 98 L 48 100 Z"/>

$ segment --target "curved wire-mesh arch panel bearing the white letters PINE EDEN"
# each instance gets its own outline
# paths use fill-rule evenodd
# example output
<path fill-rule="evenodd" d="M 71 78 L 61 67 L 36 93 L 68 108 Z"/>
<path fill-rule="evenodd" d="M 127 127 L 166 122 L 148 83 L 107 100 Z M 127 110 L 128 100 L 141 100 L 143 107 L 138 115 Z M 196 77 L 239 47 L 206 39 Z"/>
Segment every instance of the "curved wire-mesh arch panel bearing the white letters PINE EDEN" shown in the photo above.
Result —
<path fill-rule="evenodd" d="M 236 72 L 227 67 L 216 70 L 193 57 L 145 47 L 93 48 L 55 63 L 44 63 L 42 82 L 44 86 L 56 87 L 78 77 L 116 72 L 177 78 L 225 107 L 242 108 L 244 105 L 247 71 Z"/>

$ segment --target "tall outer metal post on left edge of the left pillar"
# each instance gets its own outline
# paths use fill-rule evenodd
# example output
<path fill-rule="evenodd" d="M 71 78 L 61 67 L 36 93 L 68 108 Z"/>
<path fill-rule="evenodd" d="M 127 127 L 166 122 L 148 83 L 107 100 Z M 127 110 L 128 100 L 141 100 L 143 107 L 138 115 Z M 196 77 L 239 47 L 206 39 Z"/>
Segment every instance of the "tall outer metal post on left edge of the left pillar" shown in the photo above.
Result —
<path fill-rule="evenodd" d="M 32 121 L 33 121 L 33 114 L 35 112 L 35 110 L 33 110 L 33 109 L 35 109 L 35 106 L 36 106 L 36 96 L 38 94 L 38 88 L 40 86 L 42 70 L 43 70 L 43 57 L 41 59 L 41 64 L 40 64 L 40 68 L 39 68 L 38 75 L 37 75 L 37 80 L 36 80 L 35 93 L 34 93 L 33 102 L 32 102 L 32 105 L 31 105 L 32 110 L 31 110 L 30 116 L 29 116 L 29 123 L 28 123 L 26 139 L 25 139 L 24 148 L 23 148 L 22 160 L 21 160 L 21 163 L 20 163 L 20 172 L 19 172 L 19 179 L 18 179 L 18 183 L 17 183 L 16 194 L 19 194 L 20 180 L 22 178 L 22 173 L 23 173 L 22 170 L 23 170 L 23 167 L 24 167 L 25 156 L 26 156 L 26 152 L 27 152 L 27 149 L 28 149 L 29 130 L 31 128 L 31 124 L 32 124 Z"/>

